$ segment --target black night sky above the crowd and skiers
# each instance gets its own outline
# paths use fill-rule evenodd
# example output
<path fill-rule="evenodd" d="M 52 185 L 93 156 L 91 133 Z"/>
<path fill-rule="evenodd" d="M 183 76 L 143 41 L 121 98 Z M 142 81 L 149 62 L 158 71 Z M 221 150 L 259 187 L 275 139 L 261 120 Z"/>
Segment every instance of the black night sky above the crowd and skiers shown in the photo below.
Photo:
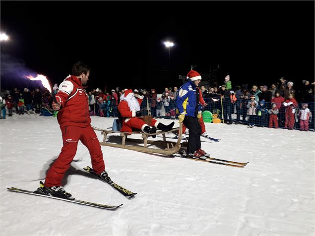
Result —
<path fill-rule="evenodd" d="M 1 42 L 1 88 L 24 88 L 20 70 L 60 84 L 77 60 L 92 68 L 87 90 L 162 92 L 181 86 L 178 76 L 191 65 L 205 78 L 212 71 L 219 85 L 226 74 L 232 85 L 268 87 L 281 76 L 295 87 L 315 78 L 314 1 L 1 0 L 0 6 L 0 30 L 10 37 Z M 165 40 L 175 43 L 170 63 Z"/>

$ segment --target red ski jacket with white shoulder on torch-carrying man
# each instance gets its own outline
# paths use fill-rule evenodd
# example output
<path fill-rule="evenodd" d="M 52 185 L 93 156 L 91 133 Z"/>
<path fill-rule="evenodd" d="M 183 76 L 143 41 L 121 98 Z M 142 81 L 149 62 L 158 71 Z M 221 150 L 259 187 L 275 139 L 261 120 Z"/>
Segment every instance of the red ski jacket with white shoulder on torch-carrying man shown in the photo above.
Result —
<path fill-rule="evenodd" d="M 83 90 L 79 78 L 74 75 L 66 77 L 59 86 L 56 99 L 62 104 L 57 116 L 60 127 L 90 125 L 88 95 Z"/>

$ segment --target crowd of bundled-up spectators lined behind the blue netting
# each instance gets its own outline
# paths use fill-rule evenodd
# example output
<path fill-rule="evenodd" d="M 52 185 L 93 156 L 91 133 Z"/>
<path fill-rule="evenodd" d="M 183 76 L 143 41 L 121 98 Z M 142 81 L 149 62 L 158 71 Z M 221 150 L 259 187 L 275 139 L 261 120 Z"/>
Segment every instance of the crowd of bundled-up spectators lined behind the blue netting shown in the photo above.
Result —
<path fill-rule="evenodd" d="M 261 84 L 252 85 L 252 87 L 248 84 L 233 86 L 230 76 L 227 75 L 219 87 L 200 86 L 202 96 L 207 104 L 202 109 L 217 114 L 227 124 L 234 122 L 235 124 L 247 124 L 249 127 L 265 126 L 314 130 L 314 121 L 311 121 L 315 110 L 315 83 L 306 80 L 302 82 L 299 91 L 295 90 L 293 82 L 286 81 L 283 77 L 279 82 L 270 84 L 270 87 Z M 120 101 L 124 99 L 125 90 L 116 87 L 111 91 L 105 90 L 104 92 L 98 88 L 87 91 L 90 115 L 118 117 L 117 107 Z M 177 118 L 175 100 L 179 87 L 166 87 L 164 91 L 156 91 L 154 88 L 150 90 L 134 89 L 135 96 L 139 90 L 144 96 L 140 108 L 147 109 L 149 115 L 155 118 Z M 5 118 L 6 110 L 8 116 L 12 116 L 14 113 L 45 115 L 43 110 L 53 114 L 53 95 L 57 92 L 57 84 L 53 88 L 53 93 L 47 89 L 39 88 L 31 91 L 27 88 L 24 88 L 23 91 L 17 88 L 12 91 L 1 91 L 1 118 Z M 163 112 L 164 116 L 162 116 L 162 108 L 165 111 L 165 113 Z M 307 124 L 305 120 L 308 120 Z"/>

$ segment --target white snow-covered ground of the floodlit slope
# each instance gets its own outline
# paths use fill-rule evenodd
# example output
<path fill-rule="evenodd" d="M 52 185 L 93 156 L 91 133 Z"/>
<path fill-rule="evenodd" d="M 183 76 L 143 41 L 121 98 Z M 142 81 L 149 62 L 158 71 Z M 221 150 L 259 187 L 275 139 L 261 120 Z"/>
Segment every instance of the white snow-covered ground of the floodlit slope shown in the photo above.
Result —
<path fill-rule="evenodd" d="M 113 118 L 92 117 L 96 127 L 112 123 Z M 124 204 L 109 211 L 7 191 L 35 190 L 58 157 L 62 138 L 53 117 L 1 119 L 1 235 L 315 235 L 314 132 L 213 123 L 206 129 L 221 140 L 203 142 L 205 151 L 250 163 L 233 168 L 102 146 L 110 177 L 137 192 L 134 199 L 82 170 L 91 162 L 79 143 L 64 188 L 80 200 Z"/>

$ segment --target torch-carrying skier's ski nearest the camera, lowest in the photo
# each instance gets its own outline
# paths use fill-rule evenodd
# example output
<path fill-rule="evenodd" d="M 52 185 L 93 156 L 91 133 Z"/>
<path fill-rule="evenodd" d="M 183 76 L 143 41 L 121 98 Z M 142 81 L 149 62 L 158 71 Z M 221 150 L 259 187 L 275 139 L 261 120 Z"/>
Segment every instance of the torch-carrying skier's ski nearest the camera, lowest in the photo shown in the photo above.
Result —
<path fill-rule="evenodd" d="M 99 204 L 99 203 L 94 203 L 94 202 L 86 202 L 86 201 L 76 200 L 76 199 L 72 199 L 71 200 L 71 199 L 66 199 L 66 198 L 61 198 L 61 197 L 54 197 L 54 196 L 51 196 L 51 195 L 45 195 L 45 194 L 37 193 L 36 191 L 32 192 L 32 191 L 28 191 L 28 190 L 24 190 L 24 189 L 19 189 L 19 188 L 15 188 L 15 187 L 7 188 L 7 190 L 13 191 L 13 192 L 21 192 L 21 193 L 37 195 L 37 196 L 41 196 L 41 197 L 49 197 L 49 198 L 54 198 L 54 199 L 57 199 L 57 200 L 63 200 L 63 201 L 78 203 L 78 204 L 92 206 L 92 207 L 98 207 L 98 208 L 107 209 L 107 210 L 114 210 L 114 209 L 117 209 L 117 208 L 119 208 L 120 206 L 123 205 L 123 204 L 121 204 L 119 206 L 109 206 L 109 205 L 104 205 L 104 204 Z"/>

